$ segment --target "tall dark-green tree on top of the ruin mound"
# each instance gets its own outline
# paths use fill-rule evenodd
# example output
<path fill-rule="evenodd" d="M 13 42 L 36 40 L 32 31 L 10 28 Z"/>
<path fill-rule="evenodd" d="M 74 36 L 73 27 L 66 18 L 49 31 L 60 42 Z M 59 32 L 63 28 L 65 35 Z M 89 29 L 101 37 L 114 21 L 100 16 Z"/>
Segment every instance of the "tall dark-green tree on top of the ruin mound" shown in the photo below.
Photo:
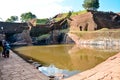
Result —
<path fill-rule="evenodd" d="M 86 10 L 94 10 L 96 11 L 99 8 L 99 0 L 84 0 L 82 6 Z"/>

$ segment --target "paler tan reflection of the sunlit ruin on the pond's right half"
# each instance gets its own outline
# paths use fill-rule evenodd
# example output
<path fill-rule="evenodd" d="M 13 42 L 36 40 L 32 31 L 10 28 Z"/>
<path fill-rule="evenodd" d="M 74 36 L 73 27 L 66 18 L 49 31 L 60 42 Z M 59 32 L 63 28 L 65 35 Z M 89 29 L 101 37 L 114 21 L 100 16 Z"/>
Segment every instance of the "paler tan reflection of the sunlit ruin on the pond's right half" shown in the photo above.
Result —
<path fill-rule="evenodd" d="M 108 48 L 96 45 L 74 45 L 69 51 L 72 67 L 84 71 L 115 55 L 118 48 Z"/>

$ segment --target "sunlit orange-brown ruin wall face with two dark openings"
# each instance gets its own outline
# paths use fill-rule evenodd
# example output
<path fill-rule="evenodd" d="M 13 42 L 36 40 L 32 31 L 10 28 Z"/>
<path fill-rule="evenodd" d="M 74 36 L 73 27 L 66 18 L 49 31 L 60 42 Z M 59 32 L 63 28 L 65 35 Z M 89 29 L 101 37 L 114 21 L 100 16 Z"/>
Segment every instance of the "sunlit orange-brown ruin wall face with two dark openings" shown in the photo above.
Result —
<path fill-rule="evenodd" d="M 93 31 L 96 28 L 91 12 L 71 17 L 70 30 L 75 31 Z"/>

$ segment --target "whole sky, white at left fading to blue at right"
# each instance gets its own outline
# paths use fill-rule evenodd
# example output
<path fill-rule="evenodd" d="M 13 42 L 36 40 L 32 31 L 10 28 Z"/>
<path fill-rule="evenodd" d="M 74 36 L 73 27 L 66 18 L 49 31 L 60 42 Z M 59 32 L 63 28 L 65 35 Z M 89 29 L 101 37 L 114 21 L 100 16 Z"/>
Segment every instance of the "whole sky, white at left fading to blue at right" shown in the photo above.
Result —
<path fill-rule="evenodd" d="M 84 10 L 84 0 L 0 0 L 0 21 L 10 16 L 32 12 L 37 18 L 50 18 L 59 13 Z M 120 12 L 120 0 L 99 0 L 99 11 Z"/>

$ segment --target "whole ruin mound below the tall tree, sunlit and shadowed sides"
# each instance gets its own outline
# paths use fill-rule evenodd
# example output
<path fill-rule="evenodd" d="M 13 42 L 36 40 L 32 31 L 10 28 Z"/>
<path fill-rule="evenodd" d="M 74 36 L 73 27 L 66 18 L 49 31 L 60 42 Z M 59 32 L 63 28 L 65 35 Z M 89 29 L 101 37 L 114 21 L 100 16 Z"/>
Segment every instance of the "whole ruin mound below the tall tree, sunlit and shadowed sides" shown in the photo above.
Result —
<path fill-rule="evenodd" d="M 120 15 L 113 12 L 89 11 L 71 17 L 69 20 L 72 31 L 94 31 L 102 28 L 120 28 Z"/>

